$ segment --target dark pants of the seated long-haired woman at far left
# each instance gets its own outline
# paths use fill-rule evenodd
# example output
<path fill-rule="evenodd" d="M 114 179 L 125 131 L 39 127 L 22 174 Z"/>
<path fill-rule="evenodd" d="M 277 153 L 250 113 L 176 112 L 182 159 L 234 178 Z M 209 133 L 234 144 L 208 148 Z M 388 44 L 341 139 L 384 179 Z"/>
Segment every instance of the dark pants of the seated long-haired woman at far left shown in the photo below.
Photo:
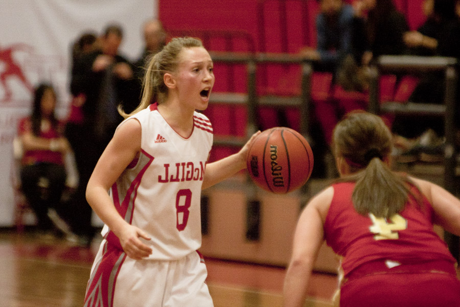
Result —
<path fill-rule="evenodd" d="M 40 230 L 52 229 L 48 209 L 60 210 L 65 188 L 65 167 L 54 163 L 26 165 L 21 168 L 20 176 L 22 191 L 37 216 L 37 226 Z"/>

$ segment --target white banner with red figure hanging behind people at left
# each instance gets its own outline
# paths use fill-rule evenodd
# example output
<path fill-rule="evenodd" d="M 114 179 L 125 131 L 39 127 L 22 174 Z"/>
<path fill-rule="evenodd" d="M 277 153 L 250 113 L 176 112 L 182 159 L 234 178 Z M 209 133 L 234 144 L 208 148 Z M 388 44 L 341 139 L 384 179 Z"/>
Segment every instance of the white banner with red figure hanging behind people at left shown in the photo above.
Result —
<path fill-rule="evenodd" d="M 31 111 L 33 87 L 52 83 L 58 116 L 65 117 L 73 41 L 115 23 L 124 30 L 121 54 L 135 60 L 143 48 L 142 24 L 156 16 L 157 0 L 0 1 L 0 227 L 13 224 L 12 140 L 17 120 Z"/>

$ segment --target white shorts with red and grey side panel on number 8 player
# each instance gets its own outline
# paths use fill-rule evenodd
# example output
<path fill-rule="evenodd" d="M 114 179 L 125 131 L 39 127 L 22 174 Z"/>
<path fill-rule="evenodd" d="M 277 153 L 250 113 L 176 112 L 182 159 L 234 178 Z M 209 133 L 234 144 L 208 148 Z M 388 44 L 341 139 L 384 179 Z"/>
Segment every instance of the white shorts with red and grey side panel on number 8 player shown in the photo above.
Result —
<path fill-rule="evenodd" d="M 91 270 L 85 307 L 214 306 L 205 283 L 208 272 L 198 252 L 158 261 L 133 260 L 118 249 L 103 249 L 101 245 Z"/>

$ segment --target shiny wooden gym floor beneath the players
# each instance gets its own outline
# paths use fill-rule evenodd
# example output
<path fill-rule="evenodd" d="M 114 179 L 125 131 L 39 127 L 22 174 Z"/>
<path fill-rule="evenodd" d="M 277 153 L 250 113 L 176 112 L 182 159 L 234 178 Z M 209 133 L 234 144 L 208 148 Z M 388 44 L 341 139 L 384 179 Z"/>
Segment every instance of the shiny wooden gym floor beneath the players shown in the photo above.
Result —
<path fill-rule="evenodd" d="M 96 240 L 95 240 L 96 241 Z M 80 307 L 97 252 L 33 232 L 0 231 L 0 296 L 8 307 Z M 281 306 L 282 267 L 205 258 L 215 307 Z M 336 276 L 314 274 L 306 306 L 332 306 Z"/>

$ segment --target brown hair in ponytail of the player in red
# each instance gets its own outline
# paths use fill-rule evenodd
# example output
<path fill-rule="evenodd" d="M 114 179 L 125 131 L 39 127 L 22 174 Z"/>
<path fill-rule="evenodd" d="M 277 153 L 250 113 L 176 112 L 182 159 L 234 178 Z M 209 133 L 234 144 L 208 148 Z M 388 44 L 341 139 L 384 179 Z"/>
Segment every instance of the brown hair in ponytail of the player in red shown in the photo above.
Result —
<path fill-rule="evenodd" d="M 352 201 L 358 213 L 390 217 L 404 209 L 412 183 L 383 162 L 392 150 L 392 134 L 380 117 L 348 114 L 334 129 L 333 146 L 334 156 L 351 168 L 352 174 L 339 181 L 356 182 Z"/>

